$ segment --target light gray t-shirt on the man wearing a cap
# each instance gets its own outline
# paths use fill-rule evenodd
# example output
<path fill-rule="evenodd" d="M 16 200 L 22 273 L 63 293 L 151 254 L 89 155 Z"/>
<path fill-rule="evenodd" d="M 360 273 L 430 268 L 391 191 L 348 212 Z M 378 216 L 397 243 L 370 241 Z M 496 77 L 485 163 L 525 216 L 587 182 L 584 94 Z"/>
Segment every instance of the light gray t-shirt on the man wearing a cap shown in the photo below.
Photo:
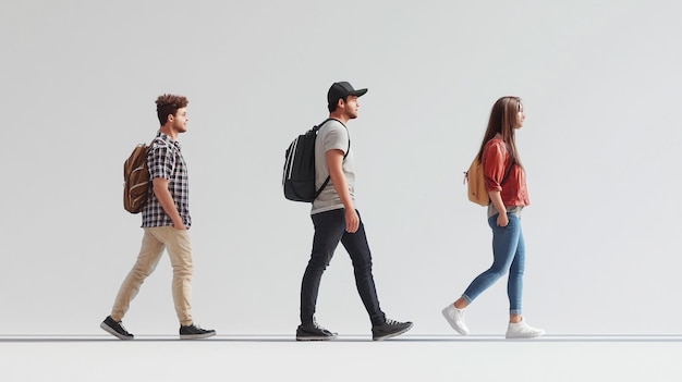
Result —
<path fill-rule="evenodd" d="M 343 175 L 351 193 L 351 199 L 355 200 L 355 165 L 353 161 L 353 150 L 349 149 L 349 132 L 345 126 L 337 120 L 325 123 L 317 132 L 315 139 L 315 187 L 319 188 L 329 176 L 326 153 L 329 150 L 339 149 L 348 156 L 343 160 Z M 325 189 L 313 201 L 310 213 L 319 213 L 343 208 L 341 198 L 333 188 L 330 180 Z"/>

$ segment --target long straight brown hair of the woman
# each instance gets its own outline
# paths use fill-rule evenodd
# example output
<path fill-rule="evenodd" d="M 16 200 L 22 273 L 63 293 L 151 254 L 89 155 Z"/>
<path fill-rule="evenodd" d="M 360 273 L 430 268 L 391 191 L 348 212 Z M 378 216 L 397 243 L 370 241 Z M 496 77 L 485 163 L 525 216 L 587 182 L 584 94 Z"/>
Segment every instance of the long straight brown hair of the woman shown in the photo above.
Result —
<path fill-rule="evenodd" d="M 519 97 L 502 97 L 498 99 L 490 110 L 490 119 L 488 120 L 488 128 L 486 128 L 486 135 L 480 144 L 478 150 L 478 161 L 483 158 L 483 150 L 486 147 L 488 140 L 495 138 L 499 133 L 502 136 L 502 140 L 507 144 L 507 149 L 511 155 L 514 163 L 521 165 L 519 159 L 519 152 L 516 151 L 516 138 L 514 135 L 514 124 L 519 119 L 519 111 L 523 110 L 521 98 Z"/>

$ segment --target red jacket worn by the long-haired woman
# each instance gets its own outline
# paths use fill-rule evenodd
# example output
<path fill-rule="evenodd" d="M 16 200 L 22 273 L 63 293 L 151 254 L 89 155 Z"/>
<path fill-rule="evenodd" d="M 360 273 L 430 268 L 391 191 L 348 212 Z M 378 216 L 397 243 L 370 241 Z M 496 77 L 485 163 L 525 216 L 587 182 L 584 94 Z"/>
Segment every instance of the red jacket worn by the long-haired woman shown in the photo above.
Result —
<path fill-rule="evenodd" d="M 483 149 L 482 158 L 486 190 L 499 190 L 502 202 L 507 207 L 528 206 L 531 200 L 526 187 L 526 175 L 521 165 L 514 163 L 509 175 L 502 182 L 511 162 L 512 157 L 502 139 L 492 138 L 488 140 Z"/>

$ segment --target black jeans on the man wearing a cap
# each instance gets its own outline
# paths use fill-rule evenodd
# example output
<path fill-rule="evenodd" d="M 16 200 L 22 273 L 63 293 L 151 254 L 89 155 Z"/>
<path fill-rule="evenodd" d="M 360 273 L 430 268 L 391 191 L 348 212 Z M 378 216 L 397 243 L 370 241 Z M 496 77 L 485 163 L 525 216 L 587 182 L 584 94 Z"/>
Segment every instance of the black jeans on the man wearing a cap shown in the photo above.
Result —
<path fill-rule="evenodd" d="M 360 215 L 360 212 L 358 212 Z M 303 274 L 301 284 L 301 323 L 312 323 L 317 304 L 317 293 L 322 273 L 329 266 L 339 242 L 351 256 L 355 273 L 355 286 L 367 309 L 373 325 L 386 322 L 386 316 L 379 308 L 379 299 L 372 275 L 372 252 L 365 236 L 365 226 L 360 221 L 355 233 L 345 232 L 345 210 L 338 209 L 312 215 L 315 225 L 313 251 Z"/>

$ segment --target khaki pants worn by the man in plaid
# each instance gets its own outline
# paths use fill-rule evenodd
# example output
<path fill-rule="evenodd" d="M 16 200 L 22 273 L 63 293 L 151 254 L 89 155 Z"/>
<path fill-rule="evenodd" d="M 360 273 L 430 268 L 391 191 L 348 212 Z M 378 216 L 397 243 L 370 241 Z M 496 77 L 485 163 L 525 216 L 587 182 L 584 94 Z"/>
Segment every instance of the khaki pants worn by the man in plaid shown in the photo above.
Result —
<path fill-rule="evenodd" d="M 175 230 L 172 226 L 155 226 L 144 229 L 142 248 L 135 266 L 130 271 L 119 294 L 117 295 L 111 318 L 121 321 L 127 311 L 131 300 L 135 298 L 139 286 L 154 272 L 167 249 L 173 267 L 173 301 L 181 325 L 192 324 L 192 245 L 187 230 Z"/>

